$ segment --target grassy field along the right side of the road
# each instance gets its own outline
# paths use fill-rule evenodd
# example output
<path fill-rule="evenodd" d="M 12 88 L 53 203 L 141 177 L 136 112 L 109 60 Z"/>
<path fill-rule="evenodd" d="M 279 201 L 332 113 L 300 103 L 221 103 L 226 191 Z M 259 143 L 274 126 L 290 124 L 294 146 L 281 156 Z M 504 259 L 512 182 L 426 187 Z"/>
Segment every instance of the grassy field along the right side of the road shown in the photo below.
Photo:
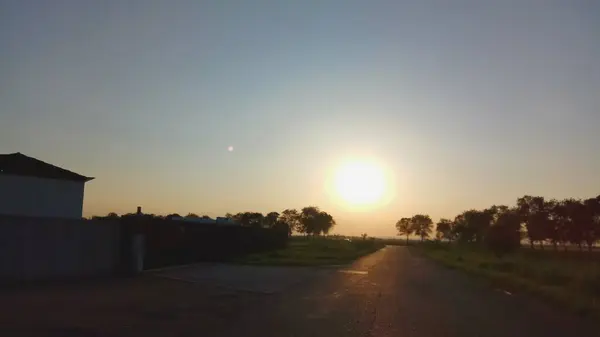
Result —
<path fill-rule="evenodd" d="M 600 314 L 600 252 L 555 252 L 521 248 L 498 258 L 473 247 L 415 247 L 442 264 L 485 277 L 496 286 L 526 291 L 581 314 Z"/>

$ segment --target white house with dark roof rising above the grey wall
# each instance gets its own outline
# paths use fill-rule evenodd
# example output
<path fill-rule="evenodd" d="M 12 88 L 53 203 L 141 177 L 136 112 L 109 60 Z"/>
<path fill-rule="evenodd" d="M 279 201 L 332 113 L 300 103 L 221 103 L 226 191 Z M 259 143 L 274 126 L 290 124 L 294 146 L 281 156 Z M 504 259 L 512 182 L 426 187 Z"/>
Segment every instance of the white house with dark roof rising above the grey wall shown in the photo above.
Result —
<path fill-rule="evenodd" d="M 0 155 L 0 214 L 81 218 L 92 179 L 22 153 Z"/>

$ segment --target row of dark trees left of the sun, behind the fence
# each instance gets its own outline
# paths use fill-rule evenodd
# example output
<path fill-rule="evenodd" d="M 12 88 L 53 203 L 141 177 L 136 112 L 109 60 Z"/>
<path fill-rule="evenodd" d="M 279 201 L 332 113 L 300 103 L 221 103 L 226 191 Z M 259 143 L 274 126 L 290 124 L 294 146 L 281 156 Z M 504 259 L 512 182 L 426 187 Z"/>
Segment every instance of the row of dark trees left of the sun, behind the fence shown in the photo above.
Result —
<path fill-rule="evenodd" d="M 110 220 L 126 218 L 131 216 L 139 216 L 136 213 L 128 213 L 119 216 L 117 213 L 110 212 L 106 216 L 93 216 L 93 220 Z M 198 215 L 195 213 L 188 213 L 186 216 L 180 216 L 177 213 L 169 214 L 166 216 L 155 215 L 155 214 L 142 214 L 141 216 L 146 218 L 156 219 L 211 219 L 207 215 Z M 292 233 L 300 233 L 306 235 L 321 235 L 328 234 L 329 231 L 335 226 L 335 219 L 329 213 L 322 211 L 316 206 L 307 206 L 302 208 L 300 211 L 296 209 L 286 209 L 281 213 L 269 212 L 266 215 L 260 212 L 239 212 L 236 214 L 227 213 L 226 218 L 232 219 L 234 222 L 241 226 L 248 227 L 262 227 L 262 228 L 278 228 L 286 230 L 289 235 Z"/>

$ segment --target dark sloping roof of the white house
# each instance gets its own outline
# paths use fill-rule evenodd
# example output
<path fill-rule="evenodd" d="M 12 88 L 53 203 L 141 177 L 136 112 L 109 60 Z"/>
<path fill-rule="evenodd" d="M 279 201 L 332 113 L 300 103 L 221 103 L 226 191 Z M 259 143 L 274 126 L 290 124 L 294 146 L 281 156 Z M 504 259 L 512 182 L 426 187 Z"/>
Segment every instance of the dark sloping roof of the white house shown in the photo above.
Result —
<path fill-rule="evenodd" d="M 19 152 L 0 154 L 0 174 L 84 182 L 94 179 L 27 157 Z"/>

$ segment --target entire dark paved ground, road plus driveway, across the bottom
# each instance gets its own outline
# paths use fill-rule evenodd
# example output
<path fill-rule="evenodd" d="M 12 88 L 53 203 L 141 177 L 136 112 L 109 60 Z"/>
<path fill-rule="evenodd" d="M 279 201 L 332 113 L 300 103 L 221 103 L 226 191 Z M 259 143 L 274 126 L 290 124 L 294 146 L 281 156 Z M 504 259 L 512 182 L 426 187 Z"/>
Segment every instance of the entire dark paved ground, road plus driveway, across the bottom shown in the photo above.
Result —
<path fill-rule="evenodd" d="M 197 264 L 131 279 L 0 290 L 0 336 L 600 336 L 405 247 L 335 268 Z"/>

